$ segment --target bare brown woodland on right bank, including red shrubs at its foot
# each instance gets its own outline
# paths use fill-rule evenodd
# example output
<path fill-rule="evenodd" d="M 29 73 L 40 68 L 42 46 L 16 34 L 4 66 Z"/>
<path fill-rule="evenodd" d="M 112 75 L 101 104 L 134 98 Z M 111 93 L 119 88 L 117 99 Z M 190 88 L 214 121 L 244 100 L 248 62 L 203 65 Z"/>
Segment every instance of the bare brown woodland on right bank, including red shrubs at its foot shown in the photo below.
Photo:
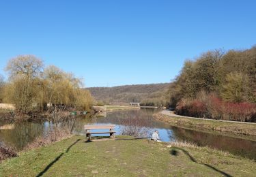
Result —
<path fill-rule="evenodd" d="M 177 114 L 256 121 L 256 47 L 186 61 L 168 93 Z"/>

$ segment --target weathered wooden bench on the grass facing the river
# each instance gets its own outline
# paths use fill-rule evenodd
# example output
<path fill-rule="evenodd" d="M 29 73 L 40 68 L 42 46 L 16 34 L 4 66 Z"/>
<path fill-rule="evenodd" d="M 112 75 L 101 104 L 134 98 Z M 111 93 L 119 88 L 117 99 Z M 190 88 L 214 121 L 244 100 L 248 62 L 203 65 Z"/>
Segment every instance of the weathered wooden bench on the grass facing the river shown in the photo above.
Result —
<path fill-rule="evenodd" d="M 100 131 L 100 132 L 91 132 L 90 130 L 94 129 L 109 129 L 109 131 Z M 109 133 L 111 138 L 115 138 L 115 125 L 85 125 L 85 135 L 88 137 L 88 140 L 91 141 L 92 134 L 103 134 Z"/>

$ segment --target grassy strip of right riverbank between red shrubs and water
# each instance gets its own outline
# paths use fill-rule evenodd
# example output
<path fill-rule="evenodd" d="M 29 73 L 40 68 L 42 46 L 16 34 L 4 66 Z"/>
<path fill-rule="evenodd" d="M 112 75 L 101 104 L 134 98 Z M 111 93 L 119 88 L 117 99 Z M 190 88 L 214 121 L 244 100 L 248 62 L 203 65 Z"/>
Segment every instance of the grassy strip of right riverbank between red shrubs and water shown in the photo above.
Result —
<path fill-rule="evenodd" d="M 209 120 L 204 118 L 190 118 L 173 115 L 171 112 L 170 114 L 167 114 L 166 112 L 167 110 L 158 112 L 154 114 L 154 117 L 177 127 L 256 136 L 256 123 L 239 123 L 231 121 Z"/>

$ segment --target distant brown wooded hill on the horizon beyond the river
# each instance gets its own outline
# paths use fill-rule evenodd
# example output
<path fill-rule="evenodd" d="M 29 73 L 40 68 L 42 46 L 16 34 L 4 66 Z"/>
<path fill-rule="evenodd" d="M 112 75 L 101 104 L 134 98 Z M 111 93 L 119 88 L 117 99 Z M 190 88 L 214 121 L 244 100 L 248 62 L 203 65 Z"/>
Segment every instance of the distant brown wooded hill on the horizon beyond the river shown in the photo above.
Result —
<path fill-rule="evenodd" d="M 141 102 L 148 99 L 165 99 L 169 83 L 137 84 L 113 87 L 89 87 L 91 95 L 104 103 Z"/>

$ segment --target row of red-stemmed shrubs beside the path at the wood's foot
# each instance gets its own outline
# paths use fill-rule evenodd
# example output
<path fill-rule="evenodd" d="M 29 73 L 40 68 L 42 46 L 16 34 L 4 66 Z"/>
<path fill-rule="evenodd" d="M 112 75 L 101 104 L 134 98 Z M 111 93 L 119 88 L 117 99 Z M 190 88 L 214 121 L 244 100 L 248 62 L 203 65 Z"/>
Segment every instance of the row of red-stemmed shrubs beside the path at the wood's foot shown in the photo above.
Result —
<path fill-rule="evenodd" d="M 227 102 L 213 94 L 208 95 L 207 99 L 182 99 L 175 110 L 176 114 L 184 116 L 256 122 L 255 103 Z"/>

